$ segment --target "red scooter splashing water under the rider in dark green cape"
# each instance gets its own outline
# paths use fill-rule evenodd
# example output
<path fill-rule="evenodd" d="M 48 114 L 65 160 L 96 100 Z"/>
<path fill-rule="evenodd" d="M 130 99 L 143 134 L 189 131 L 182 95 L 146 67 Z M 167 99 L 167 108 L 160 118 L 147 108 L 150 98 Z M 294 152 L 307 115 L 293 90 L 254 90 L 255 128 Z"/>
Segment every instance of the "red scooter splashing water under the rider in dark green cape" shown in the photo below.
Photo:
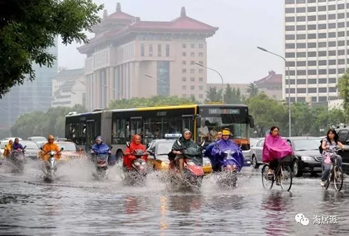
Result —
<path fill-rule="evenodd" d="M 181 147 L 181 142 L 176 141 L 177 145 Z M 180 173 L 179 163 L 173 163 L 174 154 L 170 152 L 168 154 L 170 161 L 170 182 L 179 188 L 184 189 L 200 189 L 202 179 L 205 176 L 205 172 L 202 168 L 202 152 L 205 142 L 202 142 L 198 148 L 190 147 L 179 150 L 181 155 L 184 156 L 184 172 Z"/>

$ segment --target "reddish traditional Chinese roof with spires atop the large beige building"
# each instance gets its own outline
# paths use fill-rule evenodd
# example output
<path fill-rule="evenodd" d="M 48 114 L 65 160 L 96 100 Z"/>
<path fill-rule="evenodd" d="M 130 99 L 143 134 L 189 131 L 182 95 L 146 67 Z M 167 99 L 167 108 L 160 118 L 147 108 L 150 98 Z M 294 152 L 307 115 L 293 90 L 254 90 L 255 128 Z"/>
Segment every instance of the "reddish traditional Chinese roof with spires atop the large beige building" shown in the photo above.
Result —
<path fill-rule="evenodd" d="M 151 22 L 141 21 L 140 17 L 134 17 L 121 11 L 120 3 L 117 3 L 117 11 L 111 15 L 107 15 L 106 10 L 103 14 L 101 24 L 118 24 L 128 22 L 122 29 L 115 27 L 112 30 L 104 31 L 89 40 L 89 43 L 78 47 L 81 53 L 87 53 L 91 46 L 104 43 L 107 40 L 116 40 L 118 38 L 134 33 L 186 33 L 186 34 L 205 34 L 207 37 L 213 36 L 218 30 L 218 27 L 211 27 L 198 20 L 195 20 L 186 15 L 186 9 L 181 8 L 180 17 L 175 18 L 170 22 Z M 98 27 L 98 25 L 96 26 Z"/>

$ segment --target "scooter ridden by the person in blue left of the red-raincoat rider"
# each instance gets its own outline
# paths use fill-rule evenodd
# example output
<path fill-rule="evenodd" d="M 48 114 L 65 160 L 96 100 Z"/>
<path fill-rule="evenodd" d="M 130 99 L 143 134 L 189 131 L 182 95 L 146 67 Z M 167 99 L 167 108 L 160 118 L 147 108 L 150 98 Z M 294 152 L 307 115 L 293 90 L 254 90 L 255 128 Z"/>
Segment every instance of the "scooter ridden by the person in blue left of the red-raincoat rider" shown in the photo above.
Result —
<path fill-rule="evenodd" d="M 105 175 L 107 173 L 107 168 L 108 168 L 108 160 L 110 159 L 110 156 L 112 155 L 111 152 L 112 147 L 101 150 L 101 152 L 94 152 L 91 150 L 90 155 L 91 155 L 91 161 L 93 161 L 96 165 L 96 174 L 95 177 L 98 179 L 103 179 L 105 178 Z"/>

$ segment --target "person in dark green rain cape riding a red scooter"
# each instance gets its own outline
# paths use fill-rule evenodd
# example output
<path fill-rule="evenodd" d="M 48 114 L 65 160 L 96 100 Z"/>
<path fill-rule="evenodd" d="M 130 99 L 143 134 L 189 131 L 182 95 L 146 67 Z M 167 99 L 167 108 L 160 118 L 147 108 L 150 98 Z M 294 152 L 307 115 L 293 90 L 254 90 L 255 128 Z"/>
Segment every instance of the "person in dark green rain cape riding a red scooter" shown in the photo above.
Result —
<path fill-rule="evenodd" d="M 202 149 L 191 139 L 191 131 L 184 128 L 183 136 L 176 140 L 172 145 L 172 152 L 169 154 L 169 159 L 173 163 L 178 161 L 179 170 L 184 170 L 184 158 L 191 158 L 191 161 L 198 165 L 202 165 Z M 174 157 L 175 155 L 175 157 Z"/>

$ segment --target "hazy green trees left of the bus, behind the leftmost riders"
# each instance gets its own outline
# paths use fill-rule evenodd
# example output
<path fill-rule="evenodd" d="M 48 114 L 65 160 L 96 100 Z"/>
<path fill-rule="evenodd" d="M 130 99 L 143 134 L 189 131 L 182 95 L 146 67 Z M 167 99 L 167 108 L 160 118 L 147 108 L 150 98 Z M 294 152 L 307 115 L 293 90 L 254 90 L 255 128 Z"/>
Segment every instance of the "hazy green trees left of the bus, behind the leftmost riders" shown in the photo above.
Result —
<path fill-rule="evenodd" d="M 50 108 L 47 112 L 31 112 L 23 114 L 11 127 L 11 133 L 15 137 L 28 138 L 30 136 L 47 136 L 50 133 L 57 137 L 65 135 L 65 116 L 69 112 L 87 112 L 82 105 L 73 108 L 57 107 Z"/>

